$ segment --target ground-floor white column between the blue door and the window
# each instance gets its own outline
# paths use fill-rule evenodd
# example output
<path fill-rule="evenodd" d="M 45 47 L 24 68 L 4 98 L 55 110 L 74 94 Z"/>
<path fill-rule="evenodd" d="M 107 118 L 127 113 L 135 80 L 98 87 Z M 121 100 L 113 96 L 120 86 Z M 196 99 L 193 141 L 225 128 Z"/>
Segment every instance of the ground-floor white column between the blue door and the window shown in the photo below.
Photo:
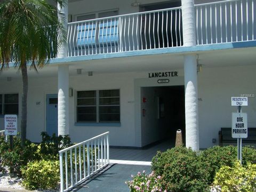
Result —
<path fill-rule="evenodd" d="M 69 135 L 69 66 L 58 66 L 58 135 Z"/>

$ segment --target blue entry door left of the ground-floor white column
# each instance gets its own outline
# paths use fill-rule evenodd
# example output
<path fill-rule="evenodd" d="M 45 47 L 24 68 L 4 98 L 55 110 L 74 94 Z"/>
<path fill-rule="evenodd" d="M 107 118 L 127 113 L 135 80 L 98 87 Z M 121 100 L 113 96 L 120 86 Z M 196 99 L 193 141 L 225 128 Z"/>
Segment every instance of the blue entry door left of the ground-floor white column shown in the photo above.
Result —
<path fill-rule="evenodd" d="M 46 132 L 58 135 L 58 94 L 46 95 Z"/>

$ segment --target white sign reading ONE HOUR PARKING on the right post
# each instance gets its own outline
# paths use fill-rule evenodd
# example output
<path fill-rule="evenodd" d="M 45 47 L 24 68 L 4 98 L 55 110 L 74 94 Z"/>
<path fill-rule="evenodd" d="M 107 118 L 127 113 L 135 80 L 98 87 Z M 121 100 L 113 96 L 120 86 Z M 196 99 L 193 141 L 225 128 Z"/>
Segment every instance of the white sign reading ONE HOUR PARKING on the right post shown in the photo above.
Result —
<path fill-rule="evenodd" d="M 247 138 L 247 113 L 232 113 L 232 137 Z"/>

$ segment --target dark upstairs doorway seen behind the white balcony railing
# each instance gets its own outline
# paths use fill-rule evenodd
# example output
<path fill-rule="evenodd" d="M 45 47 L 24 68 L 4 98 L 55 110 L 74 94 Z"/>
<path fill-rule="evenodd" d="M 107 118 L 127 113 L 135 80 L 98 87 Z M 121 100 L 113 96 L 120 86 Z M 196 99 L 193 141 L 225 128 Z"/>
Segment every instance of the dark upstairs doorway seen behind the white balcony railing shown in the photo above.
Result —
<path fill-rule="evenodd" d="M 159 2 L 140 6 L 140 12 L 155 11 L 181 6 L 180 0 Z M 150 47 L 177 47 L 183 45 L 182 14 L 179 9 L 162 12 L 152 12 L 143 15 L 142 49 Z M 146 28 L 146 29 L 145 29 Z"/>

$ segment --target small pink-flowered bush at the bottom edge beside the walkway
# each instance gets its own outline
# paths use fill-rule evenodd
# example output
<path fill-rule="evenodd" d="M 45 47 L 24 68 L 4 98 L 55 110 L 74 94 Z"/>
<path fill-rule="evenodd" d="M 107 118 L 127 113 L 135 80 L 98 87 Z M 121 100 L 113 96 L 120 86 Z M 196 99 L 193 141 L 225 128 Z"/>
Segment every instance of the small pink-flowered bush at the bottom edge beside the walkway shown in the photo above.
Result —
<path fill-rule="evenodd" d="M 145 171 L 138 172 L 137 176 L 133 177 L 132 181 L 126 181 L 125 183 L 129 186 L 131 192 L 143 191 L 143 192 L 166 192 L 162 186 L 161 176 L 155 175 L 152 171 L 149 175 Z"/>

